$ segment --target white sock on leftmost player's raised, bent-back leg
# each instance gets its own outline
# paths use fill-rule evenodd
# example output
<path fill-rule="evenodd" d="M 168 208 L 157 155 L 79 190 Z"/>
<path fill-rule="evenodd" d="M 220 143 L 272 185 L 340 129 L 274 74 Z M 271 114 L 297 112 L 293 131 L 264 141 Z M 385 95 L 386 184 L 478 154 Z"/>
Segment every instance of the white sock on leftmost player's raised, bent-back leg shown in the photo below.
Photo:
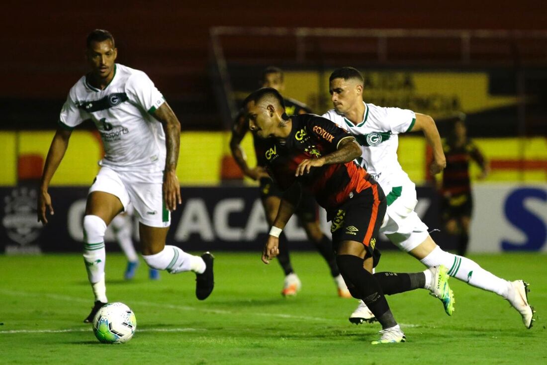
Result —
<path fill-rule="evenodd" d="M 199 256 L 194 256 L 182 251 L 177 246 L 168 246 L 153 255 L 142 256 L 148 266 L 153 269 L 167 270 L 171 274 L 182 273 L 183 271 L 194 271 L 196 274 L 203 274 L 205 262 Z"/>

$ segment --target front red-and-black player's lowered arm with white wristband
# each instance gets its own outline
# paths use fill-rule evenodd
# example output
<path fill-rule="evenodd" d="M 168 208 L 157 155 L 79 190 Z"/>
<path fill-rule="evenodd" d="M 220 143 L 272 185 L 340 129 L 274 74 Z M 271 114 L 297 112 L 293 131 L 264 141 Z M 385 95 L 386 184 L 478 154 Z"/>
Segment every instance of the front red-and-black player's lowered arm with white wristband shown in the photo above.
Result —
<path fill-rule="evenodd" d="M 264 250 L 262 250 L 262 262 L 269 264 L 270 260 L 279 254 L 279 235 L 290 217 L 293 216 L 295 207 L 300 200 L 300 185 L 294 183 L 287 189 L 281 198 L 281 204 L 277 211 L 277 216 L 274 221 L 274 226 L 270 230 Z"/>

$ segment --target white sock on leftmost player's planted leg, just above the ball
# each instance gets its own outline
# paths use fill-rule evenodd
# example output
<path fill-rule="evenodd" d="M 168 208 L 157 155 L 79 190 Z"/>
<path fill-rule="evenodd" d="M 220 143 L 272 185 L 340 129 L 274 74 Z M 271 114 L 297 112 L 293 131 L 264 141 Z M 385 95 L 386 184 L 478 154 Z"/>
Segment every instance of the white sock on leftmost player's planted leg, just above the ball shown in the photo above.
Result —
<path fill-rule="evenodd" d="M 106 223 L 97 216 L 84 217 L 84 263 L 88 279 L 95 294 L 95 300 L 107 303 L 104 285 L 104 232 Z"/>

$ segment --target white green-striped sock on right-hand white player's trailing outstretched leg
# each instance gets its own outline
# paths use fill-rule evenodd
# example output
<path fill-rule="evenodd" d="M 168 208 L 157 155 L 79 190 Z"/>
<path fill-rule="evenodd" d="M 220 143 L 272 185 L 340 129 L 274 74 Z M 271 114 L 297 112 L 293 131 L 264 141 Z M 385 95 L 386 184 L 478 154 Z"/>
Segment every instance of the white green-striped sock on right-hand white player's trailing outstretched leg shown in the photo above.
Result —
<path fill-rule="evenodd" d="M 443 251 L 439 246 L 435 247 L 420 262 L 428 268 L 445 265 L 449 269 L 448 274 L 450 276 L 465 281 L 474 287 L 496 293 L 505 299 L 508 297 L 509 281 L 486 271 L 473 260 Z"/>

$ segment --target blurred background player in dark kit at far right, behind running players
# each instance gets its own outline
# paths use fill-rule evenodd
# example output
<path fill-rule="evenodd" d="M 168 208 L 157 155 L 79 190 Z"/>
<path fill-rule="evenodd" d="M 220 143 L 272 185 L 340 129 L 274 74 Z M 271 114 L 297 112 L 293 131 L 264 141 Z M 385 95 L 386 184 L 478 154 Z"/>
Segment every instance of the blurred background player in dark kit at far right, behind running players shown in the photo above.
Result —
<path fill-rule="evenodd" d="M 467 137 L 463 113 L 459 113 L 457 119 L 452 121 L 443 149 L 446 157 L 441 184 L 443 221 L 446 231 L 458 237 L 458 255 L 465 256 L 469 245 L 469 224 L 473 212 L 469 162 L 473 160 L 479 165 L 481 169 L 479 179 L 484 179 L 490 172 L 490 168 L 479 148 Z"/>

